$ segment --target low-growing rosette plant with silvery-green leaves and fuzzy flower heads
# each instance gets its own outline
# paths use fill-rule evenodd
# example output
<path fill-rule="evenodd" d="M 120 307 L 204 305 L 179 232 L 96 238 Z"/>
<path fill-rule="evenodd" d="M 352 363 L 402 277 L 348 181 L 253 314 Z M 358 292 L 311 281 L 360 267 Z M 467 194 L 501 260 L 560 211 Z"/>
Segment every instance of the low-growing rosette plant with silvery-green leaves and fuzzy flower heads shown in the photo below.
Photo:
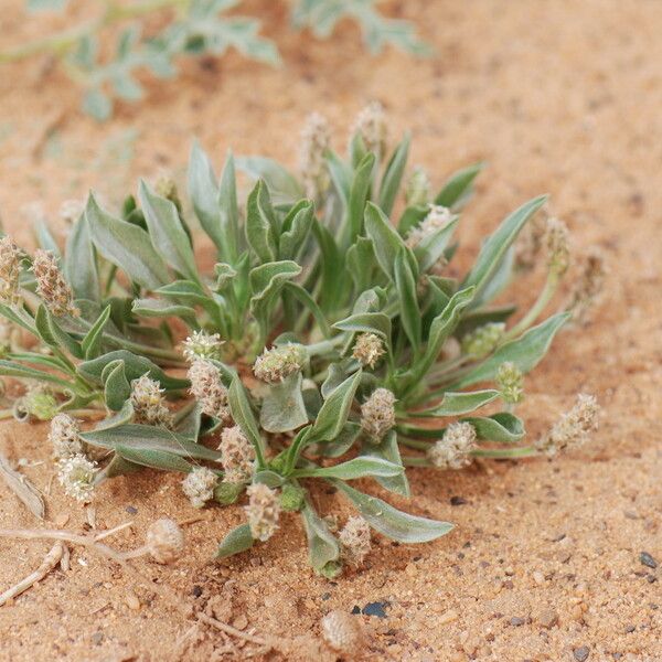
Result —
<path fill-rule="evenodd" d="M 423 170 L 406 177 L 408 151 L 408 136 L 388 148 L 378 105 L 359 116 L 345 158 L 313 115 L 299 175 L 228 154 L 217 177 L 194 146 L 185 200 L 170 181 L 141 181 L 119 213 L 90 194 L 63 250 L 43 225 L 32 256 L 1 239 L 0 312 L 20 333 L 0 373 L 29 385 L 15 416 L 51 419 L 68 494 L 89 501 L 141 467 L 180 471 L 194 506 L 245 504 L 220 557 L 297 512 L 310 564 L 332 577 L 363 562 L 371 530 L 419 543 L 451 528 L 353 481 L 408 496 L 408 467 L 552 455 L 586 438 L 591 396 L 535 444 L 514 413 L 523 376 L 586 302 L 575 288 L 570 310 L 541 319 L 568 268 L 567 229 L 536 218 L 545 196 L 530 200 L 458 275 L 460 210 L 481 166 L 431 194 Z M 245 203 L 237 171 L 254 182 Z M 194 224 L 214 247 L 206 267 Z M 546 285 L 513 323 L 515 306 L 494 300 L 545 246 Z M 316 512 L 320 482 L 355 508 L 344 526 Z"/>

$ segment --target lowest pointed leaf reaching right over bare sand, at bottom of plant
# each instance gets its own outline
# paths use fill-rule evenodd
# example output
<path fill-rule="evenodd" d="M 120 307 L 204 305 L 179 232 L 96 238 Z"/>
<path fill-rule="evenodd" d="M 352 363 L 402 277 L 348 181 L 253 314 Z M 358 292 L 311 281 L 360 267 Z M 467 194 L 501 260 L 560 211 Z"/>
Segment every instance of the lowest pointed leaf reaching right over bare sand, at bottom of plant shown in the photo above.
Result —
<path fill-rule="evenodd" d="M 399 543 L 427 543 L 452 530 L 449 522 L 437 522 L 403 513 L 385 501 L 359 492 L 340 480 L 331 482 L 344 492 L 375 531 Z"/>

